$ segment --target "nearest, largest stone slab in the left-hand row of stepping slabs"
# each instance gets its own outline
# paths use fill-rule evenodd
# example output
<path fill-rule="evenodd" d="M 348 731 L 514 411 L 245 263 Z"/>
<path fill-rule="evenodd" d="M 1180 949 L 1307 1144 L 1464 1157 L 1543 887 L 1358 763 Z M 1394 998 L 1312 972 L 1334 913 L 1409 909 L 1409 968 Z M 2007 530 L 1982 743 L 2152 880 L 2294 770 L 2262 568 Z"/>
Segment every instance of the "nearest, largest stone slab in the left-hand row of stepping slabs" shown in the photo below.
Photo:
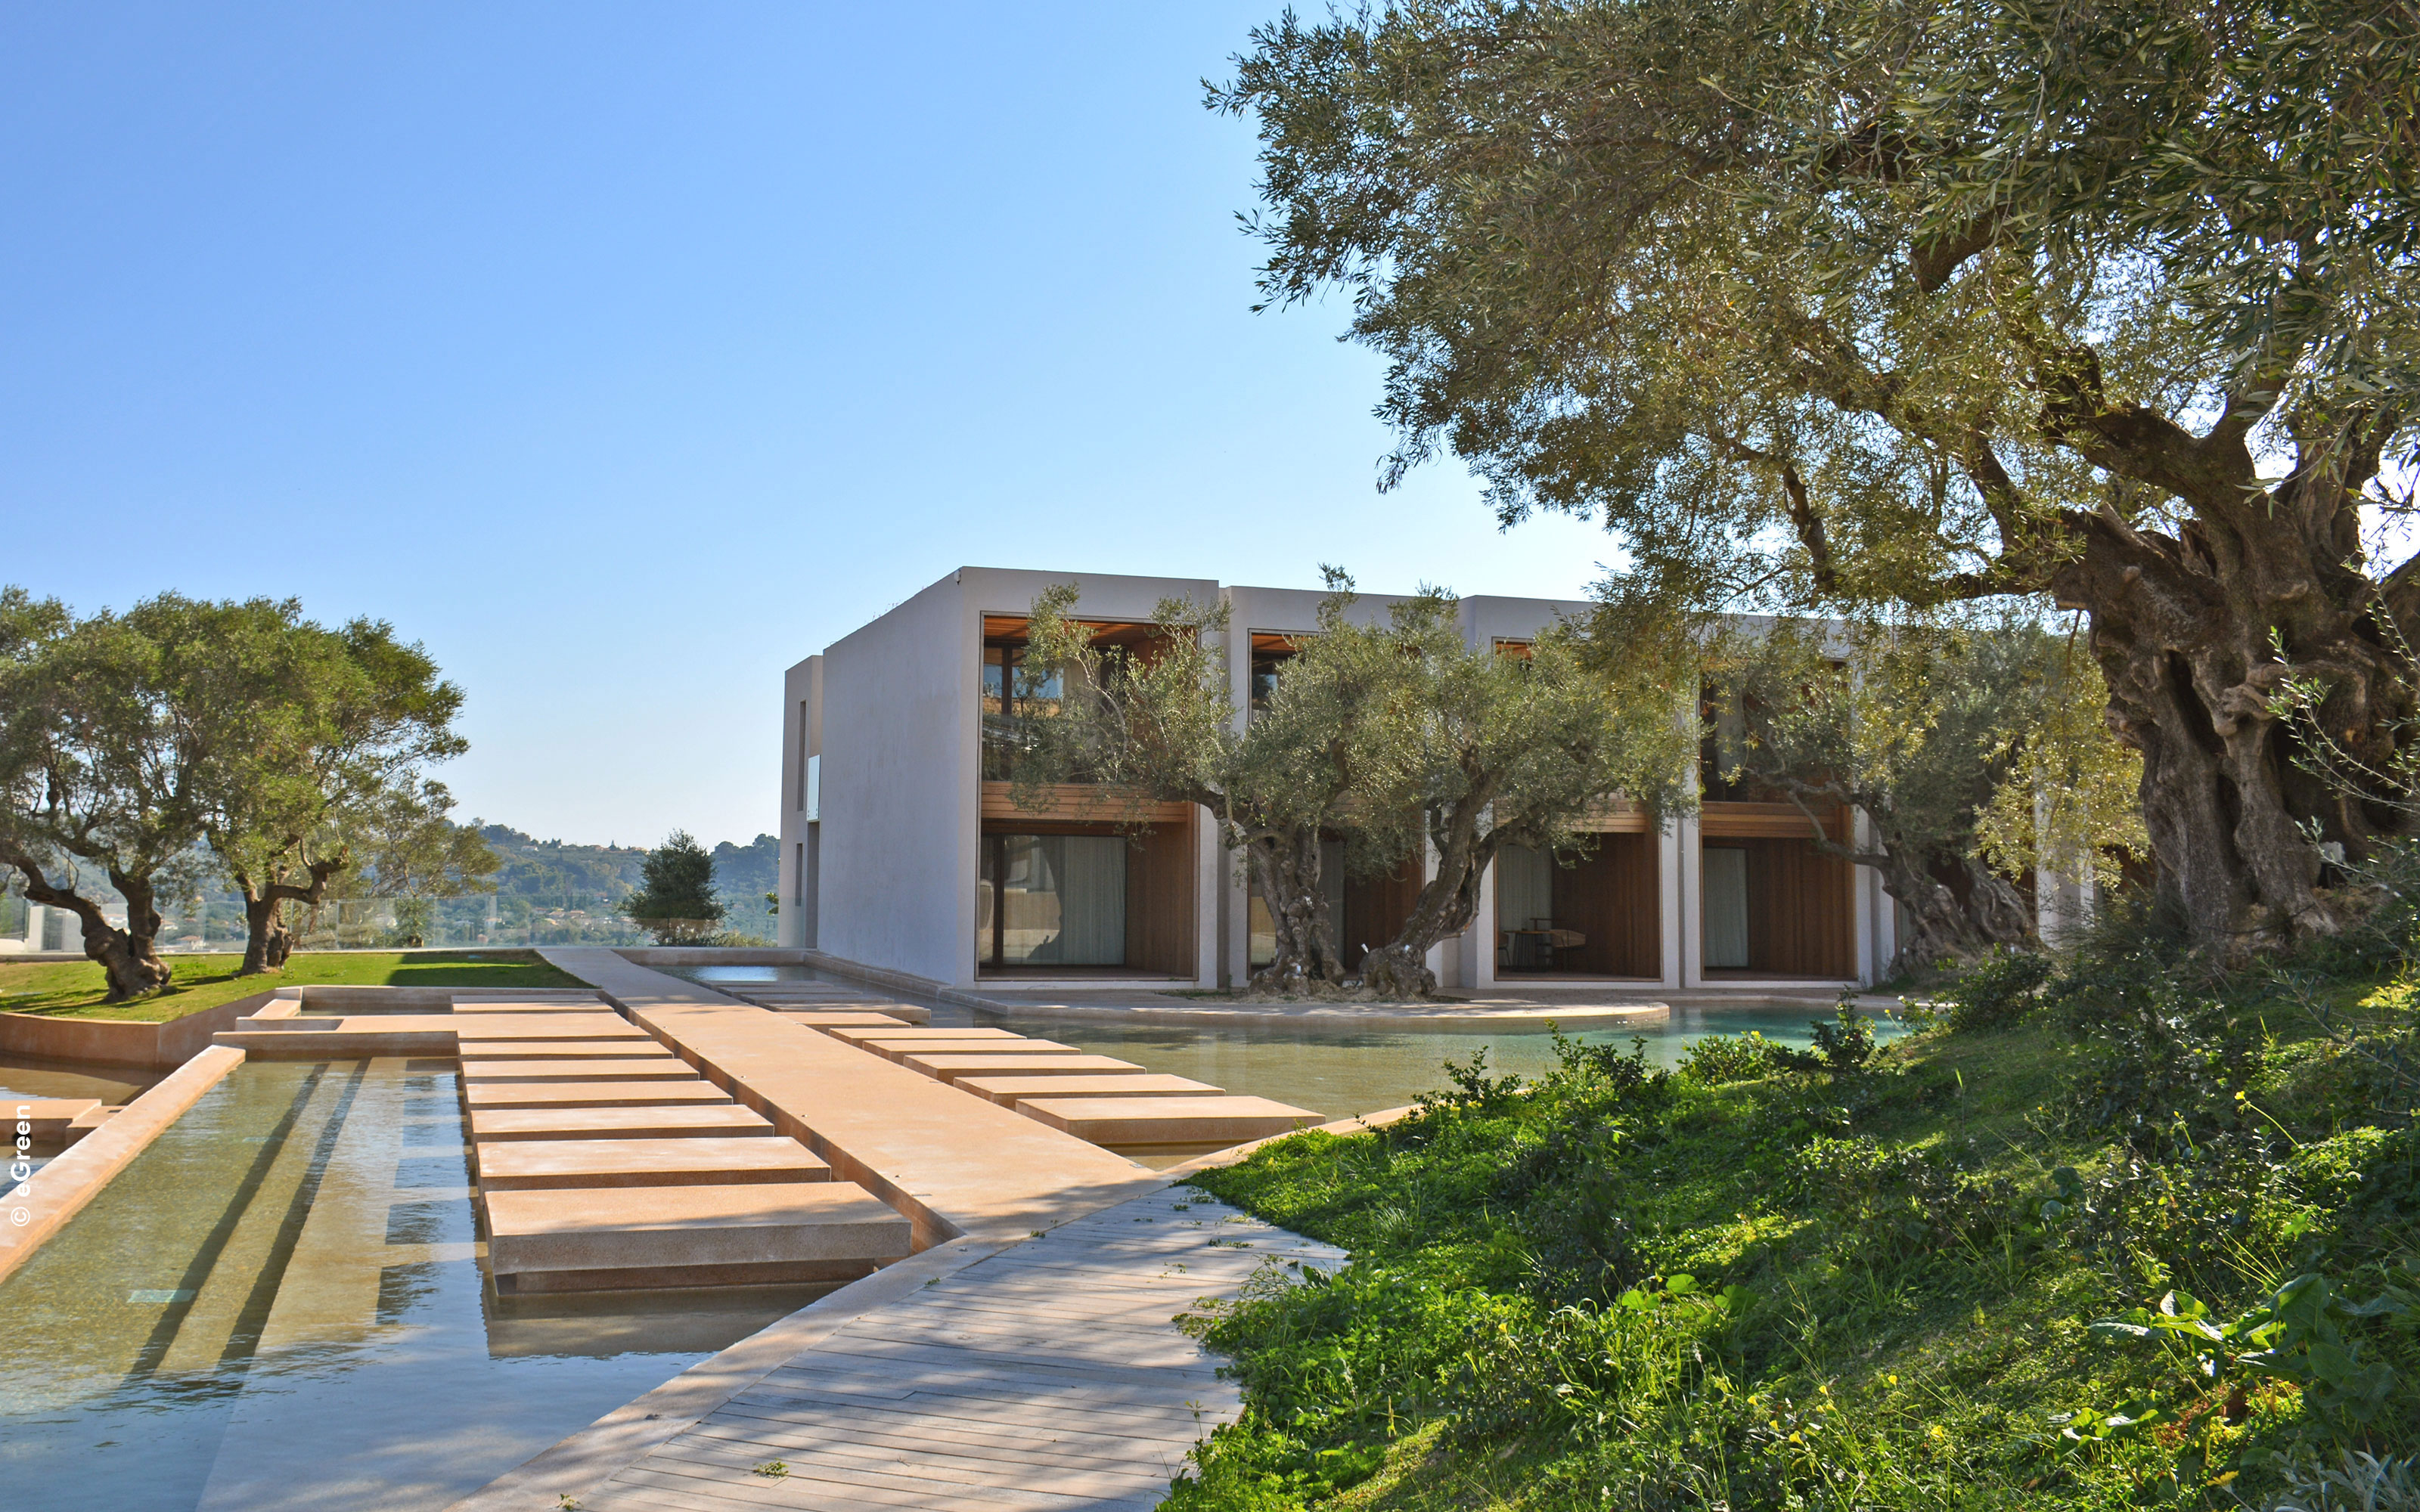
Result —
<path fill-rule="evenodd" d="M 847 1181 L 486 1198 L 489 1270 L 515 1294 L 854 1280 L 908 1246 L 908 1219 Z"/>

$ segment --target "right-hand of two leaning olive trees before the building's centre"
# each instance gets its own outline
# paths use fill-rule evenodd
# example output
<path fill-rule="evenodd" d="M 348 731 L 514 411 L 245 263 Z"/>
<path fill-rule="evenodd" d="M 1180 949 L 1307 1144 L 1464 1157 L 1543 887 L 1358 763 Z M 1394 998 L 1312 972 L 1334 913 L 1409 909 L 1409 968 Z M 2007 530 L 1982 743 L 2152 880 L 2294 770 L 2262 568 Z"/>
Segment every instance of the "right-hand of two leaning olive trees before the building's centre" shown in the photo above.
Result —
<path fill-rule="evenodd" d="M 1525 653 L 1474 648 L 1454 595 L 1433 588 L 1343 636 L 1399 670 L 1396 699 L 1365 735 L 1355 820 L 1375 854 L 1435 856 L 1404 927 L 1362 960 L 1372 997 L 1435 992 L 1425 956 L 1479 917 L 1479 881 L 1503 847 L 1571 852 L 1585 844 L 1580 820 L 1617 796 L 1658 825 L 1692 803 L 1692 733 L 1665 663 L 1643 646 L 1595 668 L 1568 627 Z"/>

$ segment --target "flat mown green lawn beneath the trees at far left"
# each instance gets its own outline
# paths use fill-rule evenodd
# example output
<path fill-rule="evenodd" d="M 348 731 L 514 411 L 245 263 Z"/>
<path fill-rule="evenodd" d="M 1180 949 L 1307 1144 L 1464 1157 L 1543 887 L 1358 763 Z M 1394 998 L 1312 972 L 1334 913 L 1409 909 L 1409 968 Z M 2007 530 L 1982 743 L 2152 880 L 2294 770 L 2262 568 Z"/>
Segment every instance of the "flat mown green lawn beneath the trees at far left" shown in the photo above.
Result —
<path fill-rule="evenodd" d="M 237 977 L 242 956 L 167 956 L 167 992 L 128 1004 L 102 1002 L 92 960 L 0 963 L 0 1011 L 56 1018 L 167 1023 L 271 987 L 586 987 L 535 951 L 329 951 L 302 953 L 283 973 Z"/>

